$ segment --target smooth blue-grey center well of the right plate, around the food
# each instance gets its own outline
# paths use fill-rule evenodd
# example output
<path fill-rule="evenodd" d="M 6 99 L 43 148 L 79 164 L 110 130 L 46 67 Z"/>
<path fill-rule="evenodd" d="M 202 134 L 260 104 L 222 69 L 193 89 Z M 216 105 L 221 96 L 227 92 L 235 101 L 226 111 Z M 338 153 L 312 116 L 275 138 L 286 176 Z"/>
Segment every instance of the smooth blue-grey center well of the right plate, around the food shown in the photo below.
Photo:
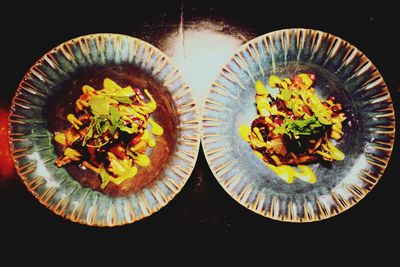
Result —
<path fill-rule="evenodd" d="M 268 73 L 268 71 L 270 72 Z M 252 173 L 247 175 L 249 179 L 253 179 L 254 177 L 259 178 L 253 180 L 252 184 L 259 188 L 268 188 L 269 191 L 276 194 L 294 196 L 308 195 L 313 192 L 316 194 L 325 194 L 329 192 L 351 172 L 360 156 L 364 153 L 366 139 L 363 138 L 363 136 L 365 136 L 365 129 L 357 105 L 352 101 L 351 96 L 340 80 L 334 74 L 320 66 L 309 63 L 289 62 L 277 65 L 274 71 L 265 70 L 265 73 L 268 74 L 263 77 L 262 82 L 264 84 L 268 84 L 268 77 L 271 74 L 277 75 L 282 79 L 286 77 L 291 78 L 300 73 L 312 73 L 316 76 L 316 82 L 313 87 L 319 97 L 321 99 L 327 99 L 329 96 L 334 96 L 336 100 L 342 104 L 343 110 L 347 116 L 347 120 L 343 123 L 344 136 L 337 142 L 337 147 L 345 153 L 346 157 L 343 161 L 334 161 L 332 163 L 316 162 L 310 164 L 309 166 L 314 170 L 318 179 L 315 184 L 309 184 L 300 180 L 295 180 L 293 184 L 287 184 L 265 166 L 262 160 L 252 153 L 248 144 L 238 135 L 238 130 L 236 129 L 238 127 L 234 127 L 229 136 L 236 139 L 232 140 L 232 142 L 237 143 L 235 153 L 237 153 L 238 157 L 246 157 L 246 160 L 241 161 L 242 163 L 240 164 L 250 164 L 252 166 L 251 168 L 243 166 L 243 168 L 252 170 Z M 250 83 L 246 82 L 246 84 Z M 244 94 L 245 95 L 239 99 L 239 101 L 243 103 L 238 104 L 243 111 L 238 113 L 238 117 L 233 118 L 233 120 L 235 120 L 233 125 L 236 126 L 241 124 L 250 125 L 251 121 L 255 118 L 255 90 L 247 90 Z M 243 153 L 244 150 L 246 153 Z"/>

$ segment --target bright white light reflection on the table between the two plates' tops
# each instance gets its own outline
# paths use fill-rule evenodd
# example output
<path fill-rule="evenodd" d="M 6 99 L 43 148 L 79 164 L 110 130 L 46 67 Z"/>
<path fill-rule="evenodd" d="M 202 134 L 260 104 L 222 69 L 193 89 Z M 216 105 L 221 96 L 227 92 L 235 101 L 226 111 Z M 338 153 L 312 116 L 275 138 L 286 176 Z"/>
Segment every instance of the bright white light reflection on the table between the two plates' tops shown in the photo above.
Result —
<path fill-rule="evenodd" d="M 162 46 L 193 89 L 201 108 L 219 70 L 244 41 L 242 35 L 222 32 L 220 25 L 199 22 L 172 34 Z"/>

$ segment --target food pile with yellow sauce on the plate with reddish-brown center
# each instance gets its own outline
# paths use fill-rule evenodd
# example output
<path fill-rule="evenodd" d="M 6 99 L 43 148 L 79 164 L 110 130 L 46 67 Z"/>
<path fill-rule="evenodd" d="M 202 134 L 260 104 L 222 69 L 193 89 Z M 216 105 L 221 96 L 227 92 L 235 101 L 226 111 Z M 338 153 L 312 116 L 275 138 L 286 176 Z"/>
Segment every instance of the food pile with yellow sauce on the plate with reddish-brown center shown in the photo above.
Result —
<path fill-rule="evenodd" d="M 55 133 L 54 140 L 64 146 L 56 165 L 77 163 L 98 173 L 101 189 L 110 182 L 119 185 L 136 175 L 136 165 L 150 164 L 147 148 L 156 145 L 153 135 L 164 132 L 150 117 L 157 104 L 147 89 L 143 94 L 108 78 L 101 90 L 84 85 L 82 92 L 75 114 L 67 115 L 71 127 Z"/>

